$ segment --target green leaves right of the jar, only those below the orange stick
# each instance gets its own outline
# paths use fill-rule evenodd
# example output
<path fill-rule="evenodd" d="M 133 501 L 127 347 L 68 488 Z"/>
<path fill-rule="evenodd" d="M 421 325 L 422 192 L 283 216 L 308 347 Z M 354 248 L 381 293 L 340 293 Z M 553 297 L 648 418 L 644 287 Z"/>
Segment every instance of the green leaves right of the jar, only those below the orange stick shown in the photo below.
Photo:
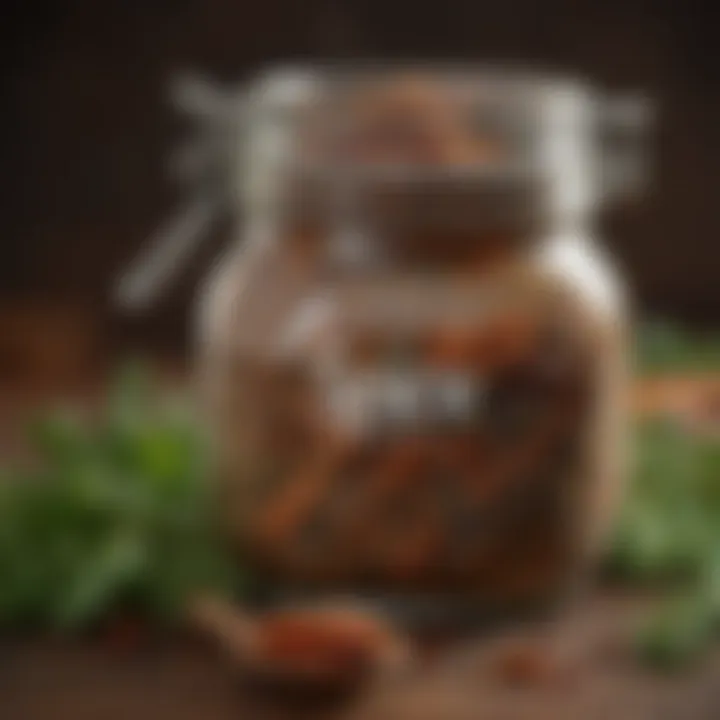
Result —
<path fill-rule="evenodd" d="M 638 431 L 638 466 L 611 567 L 634 582 L 673 581 L 667 604 L 638 638 L 641 657 L 669 669 L 699 655 L 720 626 L 720 447 L 670 420 Z"/>

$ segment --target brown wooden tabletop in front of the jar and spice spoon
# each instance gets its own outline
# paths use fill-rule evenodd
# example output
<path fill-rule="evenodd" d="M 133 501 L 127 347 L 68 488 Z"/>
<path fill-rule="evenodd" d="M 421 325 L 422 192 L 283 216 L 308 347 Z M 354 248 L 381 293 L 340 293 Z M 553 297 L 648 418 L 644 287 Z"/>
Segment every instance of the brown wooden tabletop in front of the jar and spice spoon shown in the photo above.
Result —
<path fill-rule="evenodd" d="M 341 704 L 288 702 L 248 690 L 214 652 L 193 644 L 108 649 L 99 641 L 5 642 L 3 720 L 717 720 L 720 653 L 677 675 L 643 671 L 626 652 L 645 602 L 609 594 L 557 631 L 581 649 L 569 671 L 518 687 L 485 664 L 491 647 L 464 638 L 406 678 Z"/>

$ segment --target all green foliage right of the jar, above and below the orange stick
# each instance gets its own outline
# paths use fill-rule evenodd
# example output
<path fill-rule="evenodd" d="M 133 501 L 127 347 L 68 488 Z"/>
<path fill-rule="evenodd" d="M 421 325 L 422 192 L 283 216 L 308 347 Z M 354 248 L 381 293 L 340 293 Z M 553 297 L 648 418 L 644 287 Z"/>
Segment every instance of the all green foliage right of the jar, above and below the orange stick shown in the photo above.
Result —
<path fill-rule="evenodd" d="M 640 376 L 720 373 L 720 335 L 648 324 L 635 357 Z M 638 634 L 640 656 L 669 669 L 701 655 L 720 631 L 720 437 L 662 417 L 635 434 L 635 468 L 608 566 L 629 583 L 670 591 Z"/>

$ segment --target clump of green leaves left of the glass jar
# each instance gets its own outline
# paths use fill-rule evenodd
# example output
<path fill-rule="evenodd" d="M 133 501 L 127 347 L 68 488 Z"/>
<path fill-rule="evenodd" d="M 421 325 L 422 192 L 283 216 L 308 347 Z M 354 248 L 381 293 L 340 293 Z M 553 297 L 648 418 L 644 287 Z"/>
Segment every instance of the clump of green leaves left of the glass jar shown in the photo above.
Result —
<path fill-rule="evenodd" d="M 0 483 L 0 625 L 172 621 L 194 591 L 235 588 L 202 433 L 147 370 L 125 367 L 97 416 L 51 412 L 30 436 L 32 466 Z"/>

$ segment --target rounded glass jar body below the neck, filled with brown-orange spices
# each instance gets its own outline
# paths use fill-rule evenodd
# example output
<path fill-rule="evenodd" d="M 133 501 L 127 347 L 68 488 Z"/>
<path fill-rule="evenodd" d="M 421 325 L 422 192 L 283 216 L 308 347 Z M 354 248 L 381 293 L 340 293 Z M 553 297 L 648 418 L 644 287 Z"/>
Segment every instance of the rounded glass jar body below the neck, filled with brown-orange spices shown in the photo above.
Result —
<path fill-rule="evenodd" d="M 347 272 L 328 269 L 327 236 L 252 235 L 201 316 L 243 557 L 285 585 L 477 607 L 581 579 L 621 491 L 626 417 L 622 300 L 591 241 Z"/>

